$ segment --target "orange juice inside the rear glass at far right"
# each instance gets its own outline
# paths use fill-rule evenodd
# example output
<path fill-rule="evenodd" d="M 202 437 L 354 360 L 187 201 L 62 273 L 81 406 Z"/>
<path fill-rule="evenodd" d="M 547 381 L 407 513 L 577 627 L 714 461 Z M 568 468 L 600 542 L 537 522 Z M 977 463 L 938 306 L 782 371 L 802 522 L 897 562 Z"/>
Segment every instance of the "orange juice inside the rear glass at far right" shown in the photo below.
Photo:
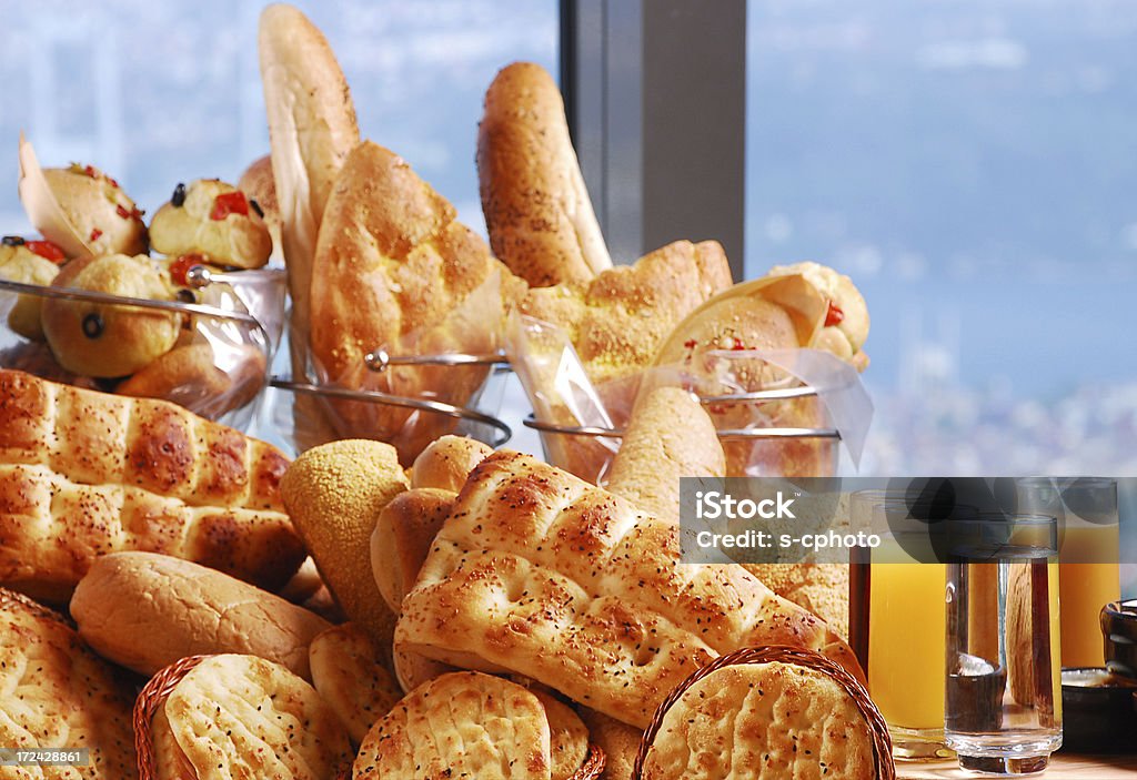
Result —
<path fill-rule="evenodd" d="M 1062 665 L 1102 666 L 1098 614 L 1121 597 L 1118 526 L 1069 523 L 1062 540 Z"/>

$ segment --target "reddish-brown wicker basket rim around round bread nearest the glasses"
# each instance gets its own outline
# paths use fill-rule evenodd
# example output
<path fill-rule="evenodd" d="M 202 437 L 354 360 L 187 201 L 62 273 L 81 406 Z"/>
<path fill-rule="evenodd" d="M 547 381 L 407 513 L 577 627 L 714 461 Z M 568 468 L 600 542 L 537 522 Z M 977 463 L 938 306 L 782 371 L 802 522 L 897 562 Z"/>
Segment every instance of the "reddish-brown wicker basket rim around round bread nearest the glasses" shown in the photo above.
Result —
<path fill-rule="evenodd" d="M 667 714 L 667 710 L 670 710 L 671 706 L 679 701 L 688 688 L 724 666 L 773 662 L 813 669 L 828 674 L 830 678 L 836 680 L 846 690 L 846 693 L 853 697 L 853 703 L 856 705 L 857 711 L 860 711 L 865 721 L 869 723 L 869 733 L 872 735 L 874 768 L 873 780 L 896 780 L 896 764 L 893 762 L 893 740 L 888 736 L 888 726 L 885 723 L 885 718 L 880 714 L 877 705 L 874 705 L 872 699 L 869 698 L 869 691 L 864 689 L 864 686 L 823 655 L 814 653 L 813 651 L 802 649 L 799 647 L 789 647 L 786 645 L 746 647 L 740 651 L 729 653 L 715 659 L 713 662 L 697 670 L 683 680 L 674 690 L 671 691 L 667 698 L 663 701 L 663 704 L 661 704 L 659 708 L 656 710 L 655 715 L 652 718 L 652 722 L 644 732 L 644 738 L 640 740 L 639 754 L 636 756 L 632 780 L 642 779 L 644 763 L 647 761 L 647 753 L 650 749 L 652 744 L 655 741 L 659 727 L 663 723 L 663 718 Z"/>

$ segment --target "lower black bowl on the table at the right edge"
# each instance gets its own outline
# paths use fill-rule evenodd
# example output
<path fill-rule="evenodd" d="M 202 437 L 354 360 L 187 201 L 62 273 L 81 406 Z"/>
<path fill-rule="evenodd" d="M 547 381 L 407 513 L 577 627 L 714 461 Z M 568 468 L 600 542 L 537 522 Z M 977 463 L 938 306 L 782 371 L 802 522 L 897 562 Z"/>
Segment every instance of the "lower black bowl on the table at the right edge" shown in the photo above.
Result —
<path fill-rule="evenodd" d="M 1137 737 L 1137 680 L 1087 666 L 1062 670 L 1062 749 L 1118 753 Z"/>

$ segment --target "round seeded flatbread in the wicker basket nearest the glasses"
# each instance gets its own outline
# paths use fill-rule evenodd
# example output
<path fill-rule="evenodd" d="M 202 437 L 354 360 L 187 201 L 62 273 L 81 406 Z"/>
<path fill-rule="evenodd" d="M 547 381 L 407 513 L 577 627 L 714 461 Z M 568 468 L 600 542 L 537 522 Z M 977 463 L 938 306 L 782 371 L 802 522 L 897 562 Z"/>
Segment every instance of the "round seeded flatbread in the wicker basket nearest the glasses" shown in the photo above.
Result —
<path fill-rule="evenodd" d="M 644 780 L 877 777 L 872 732 L 853 697 L 815 669 L 728 665 L 666 711 Z"/>

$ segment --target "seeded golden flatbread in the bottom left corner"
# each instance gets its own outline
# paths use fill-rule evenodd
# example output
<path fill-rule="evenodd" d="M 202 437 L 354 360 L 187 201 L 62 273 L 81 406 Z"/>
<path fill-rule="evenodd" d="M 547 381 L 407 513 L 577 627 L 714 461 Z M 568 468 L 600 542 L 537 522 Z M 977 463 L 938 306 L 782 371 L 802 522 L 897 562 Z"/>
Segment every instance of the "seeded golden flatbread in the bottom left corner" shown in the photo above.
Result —
<path fill-rule="evenodd" d="M 136 778 L 132 704 L 130 686 L 60 615 L 0 588 L 0 745 L 90 750 L 85 766 L 0 768 L 0 777 Z"/>

